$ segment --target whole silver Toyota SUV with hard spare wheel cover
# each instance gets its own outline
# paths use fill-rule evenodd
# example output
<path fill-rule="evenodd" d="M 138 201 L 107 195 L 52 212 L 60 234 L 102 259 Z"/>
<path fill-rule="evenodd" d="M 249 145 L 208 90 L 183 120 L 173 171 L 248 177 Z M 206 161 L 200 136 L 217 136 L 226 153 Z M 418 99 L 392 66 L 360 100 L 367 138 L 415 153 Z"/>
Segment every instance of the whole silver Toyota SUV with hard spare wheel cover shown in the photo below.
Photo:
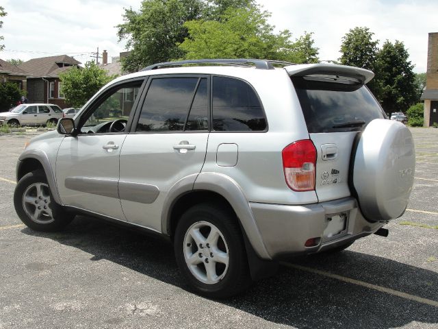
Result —
<path fill-rule="evenodd" d="M 194 60 L 119 77 L 23 151 L 16 212 L 34 230 L 86 213 L 161 234 L 194 291 L 239 293 L 283 256 L 387 235 L 403 214 L 413 138 L 386 119 L 373 76 Z"/>

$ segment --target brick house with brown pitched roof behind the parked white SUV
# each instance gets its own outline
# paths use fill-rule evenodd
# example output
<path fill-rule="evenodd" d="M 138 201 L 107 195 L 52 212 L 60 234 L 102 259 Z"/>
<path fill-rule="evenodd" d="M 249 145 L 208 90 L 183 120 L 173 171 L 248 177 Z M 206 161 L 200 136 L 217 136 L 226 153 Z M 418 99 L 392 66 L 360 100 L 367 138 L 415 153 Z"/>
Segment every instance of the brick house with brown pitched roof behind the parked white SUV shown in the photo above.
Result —
<path fill-rule="evenodd" d="M 21 64 L 19 69 L 28 73 L 29 103 L 52 103 L 66 108 L 67 104 L 60 93 L 60 73 L 79 64 L 81 62 L 66 55 L 33 58 Z"/>

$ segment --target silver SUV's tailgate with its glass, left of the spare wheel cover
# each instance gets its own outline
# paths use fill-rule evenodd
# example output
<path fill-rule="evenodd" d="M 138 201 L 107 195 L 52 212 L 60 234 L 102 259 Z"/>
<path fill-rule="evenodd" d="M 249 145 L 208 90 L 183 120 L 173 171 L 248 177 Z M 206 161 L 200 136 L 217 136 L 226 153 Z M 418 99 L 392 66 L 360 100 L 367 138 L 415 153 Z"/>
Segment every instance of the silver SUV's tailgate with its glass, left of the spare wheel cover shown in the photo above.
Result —
<path fill-rule="evenodd" d="M 348 72 L 344 72 L 344 75 Z M 370 90 L 352 77 L 292 77 L 311 141 L 318 151 L 315 191 L 319 202 L 348 197 L 350 156 L 358 132 L 383 119 Z"/>

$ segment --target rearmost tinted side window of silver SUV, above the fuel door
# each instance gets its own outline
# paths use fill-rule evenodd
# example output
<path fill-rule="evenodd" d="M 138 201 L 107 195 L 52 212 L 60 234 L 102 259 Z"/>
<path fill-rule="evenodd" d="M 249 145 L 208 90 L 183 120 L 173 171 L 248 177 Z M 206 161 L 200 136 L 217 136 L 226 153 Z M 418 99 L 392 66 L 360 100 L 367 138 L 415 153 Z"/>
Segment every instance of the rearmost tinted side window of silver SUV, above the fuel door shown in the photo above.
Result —
<path fill-rule="evenodd" d="M 265 130 L 265 115 L 253 88 L 241 80 L 214 77 L 213 127 L 232 132 Z"/>

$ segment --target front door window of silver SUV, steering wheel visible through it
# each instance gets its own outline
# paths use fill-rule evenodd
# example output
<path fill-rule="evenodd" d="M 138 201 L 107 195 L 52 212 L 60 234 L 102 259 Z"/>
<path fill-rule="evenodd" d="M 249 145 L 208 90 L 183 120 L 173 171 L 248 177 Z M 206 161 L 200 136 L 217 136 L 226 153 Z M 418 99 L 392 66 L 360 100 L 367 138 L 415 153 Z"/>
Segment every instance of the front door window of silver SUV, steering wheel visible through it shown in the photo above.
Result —
<path fill-rule="evenodd" d="M 141 85 L 142 81 L 122 85 L 98 99 L 91 112 L 84 114 L 86 122 L 80 128 L 81 132 L 123 132 L 133 108 L 133 101 L 127 101 L 125 95 L 135 93 L 138 96 Z M 118 122 L 111 127 L 114 121 Z"/>

